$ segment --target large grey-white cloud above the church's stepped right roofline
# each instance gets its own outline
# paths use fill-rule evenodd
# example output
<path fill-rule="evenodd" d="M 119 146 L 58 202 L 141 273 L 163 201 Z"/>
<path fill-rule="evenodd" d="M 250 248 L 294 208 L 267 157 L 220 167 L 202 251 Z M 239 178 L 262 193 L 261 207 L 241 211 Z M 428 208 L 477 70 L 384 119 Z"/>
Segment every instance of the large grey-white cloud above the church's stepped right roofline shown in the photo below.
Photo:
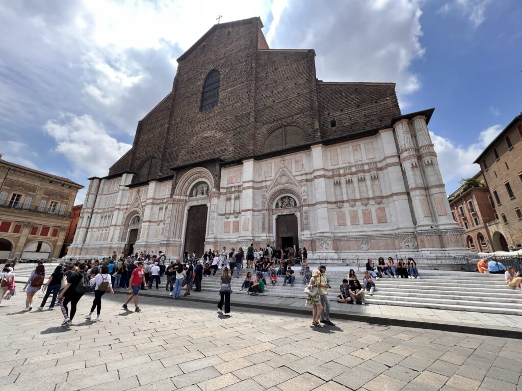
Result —
<path fill-rule="evenodd" d="M 289 0 L 267 36 L 276 48 L 313 48 L 325 81 L 396 82 L 401 99 L 421 87 L 412 62 L 424 54 L 418 0 Z M 276 20 L 276 18 L 274 18 Z"/>

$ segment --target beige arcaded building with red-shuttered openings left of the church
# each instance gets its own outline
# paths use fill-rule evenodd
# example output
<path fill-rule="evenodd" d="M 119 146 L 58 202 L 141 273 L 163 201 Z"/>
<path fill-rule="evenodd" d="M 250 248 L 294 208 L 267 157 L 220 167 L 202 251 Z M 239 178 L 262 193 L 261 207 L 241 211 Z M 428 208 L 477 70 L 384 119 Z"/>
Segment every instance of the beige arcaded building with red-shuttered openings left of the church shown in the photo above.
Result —
<path fill-rule="evenodd" d="M 0 154 L 0 261 L 58 258 L 83 186 Z"/>

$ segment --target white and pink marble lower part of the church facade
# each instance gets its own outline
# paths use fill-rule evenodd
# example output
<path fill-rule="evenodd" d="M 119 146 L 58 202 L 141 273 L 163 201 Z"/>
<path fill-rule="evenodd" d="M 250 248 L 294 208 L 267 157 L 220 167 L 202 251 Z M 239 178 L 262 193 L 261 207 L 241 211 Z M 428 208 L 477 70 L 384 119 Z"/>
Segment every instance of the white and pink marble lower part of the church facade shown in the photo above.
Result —
<path fill-rule="evenodd" d="M 135 250 L 180 256 L 188 210 L 201 204 L 205 249 L 274 245 L 277 217 L 294 214 L 309 258 L 469 253 L 422 116 L 371 137 L 224 166 L 218 184 L 203 167 L 174 188 L 172 180 L 123 186 L 132 176 L 91 179 L 68 257 L 120 253 L 132 228 Z"/>

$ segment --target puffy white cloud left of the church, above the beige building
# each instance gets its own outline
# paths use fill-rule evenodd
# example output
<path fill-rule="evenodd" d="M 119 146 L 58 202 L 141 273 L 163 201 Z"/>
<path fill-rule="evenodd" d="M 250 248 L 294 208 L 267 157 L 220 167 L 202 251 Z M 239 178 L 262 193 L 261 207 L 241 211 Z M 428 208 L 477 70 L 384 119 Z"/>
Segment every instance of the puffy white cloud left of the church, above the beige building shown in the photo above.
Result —
<path fill-rule="evenodd" d="M 90 115 L 64 114 L 59 120 L 47 121 L 43 129 L 56 141 L 55 151 L 67 158 L 75 176 L 105 176 L 131 148 L 111 137 Z"/>

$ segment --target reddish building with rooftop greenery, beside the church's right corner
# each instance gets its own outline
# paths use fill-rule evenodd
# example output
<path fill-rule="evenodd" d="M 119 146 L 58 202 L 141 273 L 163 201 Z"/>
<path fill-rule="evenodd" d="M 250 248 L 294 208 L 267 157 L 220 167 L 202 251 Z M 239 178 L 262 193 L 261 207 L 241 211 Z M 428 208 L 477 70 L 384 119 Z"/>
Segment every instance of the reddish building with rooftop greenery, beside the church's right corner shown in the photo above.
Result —
<path fill-rule="evenodd" d="M 449 207 L 455 221 L 464 228 L 464 240 L 473 252 L 494 252 L 488 223 L 495 221 L 495 205 L 482 173 L 473 179 L 482 186 L 462 185 L 448 197 Z"/>

